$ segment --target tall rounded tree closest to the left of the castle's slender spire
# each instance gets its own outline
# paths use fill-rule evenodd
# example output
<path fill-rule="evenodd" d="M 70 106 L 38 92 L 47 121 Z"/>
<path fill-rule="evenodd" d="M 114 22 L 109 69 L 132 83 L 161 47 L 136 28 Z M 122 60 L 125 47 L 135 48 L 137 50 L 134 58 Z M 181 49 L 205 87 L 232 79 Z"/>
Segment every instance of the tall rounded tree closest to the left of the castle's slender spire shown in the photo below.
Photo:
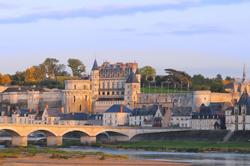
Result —
<path fill-rule="evenodd" d="M 81 77 L 85 72 L 85 65 L 79 59 L 68 59 L 68 67 L 71 68 L 74 77 Z"/>

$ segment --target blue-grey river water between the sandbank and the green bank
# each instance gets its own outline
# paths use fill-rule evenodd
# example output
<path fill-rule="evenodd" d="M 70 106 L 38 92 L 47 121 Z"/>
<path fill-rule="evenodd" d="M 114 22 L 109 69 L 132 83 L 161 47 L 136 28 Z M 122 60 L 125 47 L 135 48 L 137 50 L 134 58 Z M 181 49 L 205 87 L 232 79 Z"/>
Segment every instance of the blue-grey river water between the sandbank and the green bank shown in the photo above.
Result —
<path fill-rule="evenodd" d="M 62 150 L 104 152 L 115 155 L 128 155 L 130 158 L 187 163 L 192 166 L 250 166 L 250 154 L 153 152 L 142 150 L 120 150 L 77 146 L 62 148 Z"/>

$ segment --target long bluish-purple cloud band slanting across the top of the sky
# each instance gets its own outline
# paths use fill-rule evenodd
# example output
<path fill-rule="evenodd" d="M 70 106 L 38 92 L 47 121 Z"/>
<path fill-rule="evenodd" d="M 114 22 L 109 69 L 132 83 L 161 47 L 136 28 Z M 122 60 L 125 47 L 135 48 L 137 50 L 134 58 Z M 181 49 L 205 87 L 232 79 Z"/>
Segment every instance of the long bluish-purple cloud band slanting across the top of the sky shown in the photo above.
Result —
<path fill-rule="evenodd" d="M 113 5 L 102 6 L 96 9 L 75 8 L 65 10 L 49 10 L 39 11 L 31 14 L 19 16 L 1 18 L 0 24 L 18 24 L 18 23 L 32 23 L 42 19 L 62 20 L 69 18 L 101 18 L 106 16 L 115 15 L 133 15 L 139 12 L 159 12 L 165 10 L 185 10 L 192 7 L 201 7 L 206 5 L 226 5 L 232 3 L 249 2 L 247 0 L 190 0 L 190 1 L 178 1 L 179 3 L 156 3 L 146 5 Z M 7 4 L 2 4 L 2 7 L 8 7 Z M 0 4 L 1 8 L 1 4 Z M 37 7 L 38 8 L 38 7 Z"/>

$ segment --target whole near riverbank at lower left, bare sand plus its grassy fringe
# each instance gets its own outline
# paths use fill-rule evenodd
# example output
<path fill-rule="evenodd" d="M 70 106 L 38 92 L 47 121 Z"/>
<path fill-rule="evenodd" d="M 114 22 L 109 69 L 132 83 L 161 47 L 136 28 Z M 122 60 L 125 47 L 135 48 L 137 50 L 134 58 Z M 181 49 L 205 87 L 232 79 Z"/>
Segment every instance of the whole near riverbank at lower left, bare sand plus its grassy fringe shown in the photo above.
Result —
<path fill-rule="evenodd" d="M 2 166 L 182 166 L 172 162 L 128 158 L 127 155 L 112 155 L 103 152 L 63 151 L 57 148 L 8 148 L 0 150 L 0 165 Z"/>

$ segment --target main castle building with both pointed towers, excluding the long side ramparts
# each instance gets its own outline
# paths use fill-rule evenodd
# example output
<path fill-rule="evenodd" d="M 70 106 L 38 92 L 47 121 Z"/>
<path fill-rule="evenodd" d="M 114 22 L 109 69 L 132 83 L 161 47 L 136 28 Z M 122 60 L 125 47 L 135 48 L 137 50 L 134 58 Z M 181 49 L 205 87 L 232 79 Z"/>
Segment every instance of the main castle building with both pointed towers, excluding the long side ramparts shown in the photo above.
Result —
<path fill-rule="evenodd" d="M 90 77 L 67 80 L 63 91 L 65 112 L 104 112 L 113 104 L 134 108 L 140 94 L 137 63 L 94 61 Z"/>

